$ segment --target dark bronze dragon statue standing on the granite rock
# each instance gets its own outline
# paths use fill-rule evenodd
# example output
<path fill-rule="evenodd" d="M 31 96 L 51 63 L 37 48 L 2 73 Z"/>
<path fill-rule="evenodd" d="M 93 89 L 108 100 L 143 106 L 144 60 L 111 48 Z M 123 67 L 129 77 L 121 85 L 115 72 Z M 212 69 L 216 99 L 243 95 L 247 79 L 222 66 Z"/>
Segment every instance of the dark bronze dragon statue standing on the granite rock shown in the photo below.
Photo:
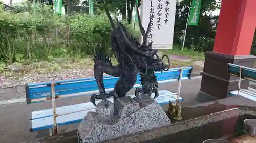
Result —
<path fill-rule="evenodd" d="M 123 97 L 131 90 L 137 80 L 138 73 L 141 77 L 142 88 L 137 88 L 135 95 L 139 93 L 147 94 L 148 97 L 155 93 L 158 97 L 158 82 L 154 72 L 167 71 L 170 67 L 168 56 L 164 55 L 160 59 L 157 55 L 157 50 L 152 49 L 152 42 L 147 45 L 148 33 L 150 32 L 151 21 L 148 23 L 147 30 L 142 27 L 139 10 L 137 7 L 139 28 L 143 37 L 143 42 L 140 44 L 133 36 L 131 36 L 125 26 L 116 19 L 115 26 L 109 11 L 106 9 L 112 33 L 111 46 L 112 52 L 118 61 L 117 65 L 112 65 L 110 58 L 105 54 L 95 52 L 94 55 L 94 77 L 96 79 L 99 95 L 93 94 L 91 102 L 96 106 L 95 99 L 101 99 L 106 103 L 106 99 L 113 96 L 114 98 Z M 166 57 L 168 64 L 163 63 L 163 58 Z M 105 92 L 103 83 L 103 73 L 119 77 L 115 84 L 114 90 L 110 93 Z M 108 105 L 105 105 L 108 106 Z"/>

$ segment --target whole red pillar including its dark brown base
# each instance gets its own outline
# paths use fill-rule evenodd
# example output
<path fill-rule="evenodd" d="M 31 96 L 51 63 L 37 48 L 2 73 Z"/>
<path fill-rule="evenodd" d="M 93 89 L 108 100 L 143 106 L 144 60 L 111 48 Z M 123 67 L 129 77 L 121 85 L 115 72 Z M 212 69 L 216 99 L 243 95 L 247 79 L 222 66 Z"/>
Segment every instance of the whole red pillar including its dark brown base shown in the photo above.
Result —
<path fill-rule="evenodd" d="M 213 52 L 205 53 L 201 102 L 226 98 L 237 89 L 237 78 L 227 75 L 227 63 L 253 67 L 249 55 L 256 28 L 256 0 L 222 0 Z M 243 81 L 242 88 L 248 88 Z"/>

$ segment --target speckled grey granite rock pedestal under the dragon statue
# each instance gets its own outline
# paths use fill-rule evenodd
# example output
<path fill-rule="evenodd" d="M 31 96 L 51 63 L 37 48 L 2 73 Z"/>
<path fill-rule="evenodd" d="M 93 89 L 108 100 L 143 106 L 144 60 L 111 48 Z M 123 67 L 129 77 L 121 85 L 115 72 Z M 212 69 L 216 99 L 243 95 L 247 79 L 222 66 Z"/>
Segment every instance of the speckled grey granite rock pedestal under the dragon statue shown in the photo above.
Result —
<path fill-rule="evenodd" d="M 116 98 L 108 105 L 100 102 L 96 112 L 87 113 L 78 125 L 79 142 L 96 143 L 170 124 L 161 106 L 144 96 Z"/>

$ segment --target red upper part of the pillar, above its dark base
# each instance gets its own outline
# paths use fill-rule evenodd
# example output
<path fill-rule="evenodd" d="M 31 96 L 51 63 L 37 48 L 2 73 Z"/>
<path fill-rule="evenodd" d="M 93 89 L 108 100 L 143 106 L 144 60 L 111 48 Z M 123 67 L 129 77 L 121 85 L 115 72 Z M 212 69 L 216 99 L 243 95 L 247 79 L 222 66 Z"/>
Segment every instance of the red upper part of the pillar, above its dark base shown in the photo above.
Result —
<path fill-rule="evenodd" d="M 255 0 L 222 1 L 214 52 L 248 55 L 256 27 Z"/>

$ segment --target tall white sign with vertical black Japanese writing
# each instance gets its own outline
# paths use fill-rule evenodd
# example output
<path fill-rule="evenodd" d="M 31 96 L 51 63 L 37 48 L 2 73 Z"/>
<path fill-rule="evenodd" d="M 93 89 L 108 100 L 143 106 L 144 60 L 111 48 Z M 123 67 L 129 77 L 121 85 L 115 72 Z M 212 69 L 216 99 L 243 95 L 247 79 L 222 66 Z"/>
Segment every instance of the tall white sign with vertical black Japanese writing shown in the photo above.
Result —
<path fill-rule="evenodd" d="M 147 43 L 152 41 L 153 48 L 172 49 L 175 12 L 176 0 L 141 0 L 141 21 L 145 31 L 152 20 Z"/>

